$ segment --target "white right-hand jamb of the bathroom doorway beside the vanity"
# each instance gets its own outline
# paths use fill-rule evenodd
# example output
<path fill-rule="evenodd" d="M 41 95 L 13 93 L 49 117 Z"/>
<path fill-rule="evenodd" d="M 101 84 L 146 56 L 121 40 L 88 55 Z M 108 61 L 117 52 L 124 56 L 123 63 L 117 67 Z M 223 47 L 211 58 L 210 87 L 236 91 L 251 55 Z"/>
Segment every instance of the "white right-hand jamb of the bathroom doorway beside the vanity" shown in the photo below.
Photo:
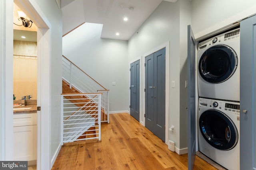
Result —
<path fill-rule="evenodd" d="M 42 32 L 40 32 L 42 31 Z M 38 29 L 38 59 L 40 65 L 40 86 L 38 86 L 38 93 L 40 98 L 38 106 L 41 106 L 41 111 L 38 111 L 38 160 L 37 167 L 39 169 L 51 169 L 51 91 L 50 91 L 50 30 Z M 48 40 L 48 41 L 46 41 Z M 44 71 L 43 71 L 44 70 Z M 49 71 L 46 71 L 49 70 Z M 39 84 L 38 84 L 39 85 Z"/>

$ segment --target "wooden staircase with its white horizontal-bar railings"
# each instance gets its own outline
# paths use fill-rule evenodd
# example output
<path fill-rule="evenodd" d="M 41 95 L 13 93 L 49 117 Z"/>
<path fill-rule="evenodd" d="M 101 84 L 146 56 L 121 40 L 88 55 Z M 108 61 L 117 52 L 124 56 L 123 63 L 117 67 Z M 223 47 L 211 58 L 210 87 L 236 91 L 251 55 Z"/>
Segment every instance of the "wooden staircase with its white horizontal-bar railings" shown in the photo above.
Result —
<path fill-rule="evenodd" d="M 109 123 L 108 92 L 74 63 L 62 58 L 63 143 L 99 139 Z"/>

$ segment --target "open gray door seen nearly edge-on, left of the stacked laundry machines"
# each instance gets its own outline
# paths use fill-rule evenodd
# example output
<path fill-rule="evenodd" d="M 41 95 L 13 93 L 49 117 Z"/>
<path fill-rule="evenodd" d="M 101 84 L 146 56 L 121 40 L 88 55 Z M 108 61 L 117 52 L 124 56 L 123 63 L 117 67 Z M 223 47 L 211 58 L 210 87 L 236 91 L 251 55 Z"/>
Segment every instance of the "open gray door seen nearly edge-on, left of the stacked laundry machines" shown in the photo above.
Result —
<path fill-rule="evenodd" d="M 196 157 L 196 41 L 188 25 L 188 170 L 194 167 Z"/>

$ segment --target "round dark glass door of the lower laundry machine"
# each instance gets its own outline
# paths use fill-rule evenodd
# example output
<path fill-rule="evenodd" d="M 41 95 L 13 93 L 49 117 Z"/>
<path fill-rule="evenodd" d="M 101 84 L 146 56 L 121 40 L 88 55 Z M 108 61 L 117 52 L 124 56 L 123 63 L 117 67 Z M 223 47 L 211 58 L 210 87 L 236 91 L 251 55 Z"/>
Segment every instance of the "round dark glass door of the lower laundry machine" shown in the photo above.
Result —
<path fill-rule="evenodd" d="M 199 129 L 212 147 L 230 150 L 238 143 L 238 131 L 233 121 L 224 113 L 209 109 L 199 118 Z"/>

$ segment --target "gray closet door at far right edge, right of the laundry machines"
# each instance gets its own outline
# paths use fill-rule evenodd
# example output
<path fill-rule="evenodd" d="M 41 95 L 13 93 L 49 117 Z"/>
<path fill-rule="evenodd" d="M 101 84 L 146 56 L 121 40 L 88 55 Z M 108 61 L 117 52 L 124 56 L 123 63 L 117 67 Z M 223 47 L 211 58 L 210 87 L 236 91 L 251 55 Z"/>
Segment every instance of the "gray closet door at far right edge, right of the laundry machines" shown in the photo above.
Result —
<path fill-rule="evenodd" d="M 240 170 L 256 169 L 256 16 L 240 22 Z"/>

